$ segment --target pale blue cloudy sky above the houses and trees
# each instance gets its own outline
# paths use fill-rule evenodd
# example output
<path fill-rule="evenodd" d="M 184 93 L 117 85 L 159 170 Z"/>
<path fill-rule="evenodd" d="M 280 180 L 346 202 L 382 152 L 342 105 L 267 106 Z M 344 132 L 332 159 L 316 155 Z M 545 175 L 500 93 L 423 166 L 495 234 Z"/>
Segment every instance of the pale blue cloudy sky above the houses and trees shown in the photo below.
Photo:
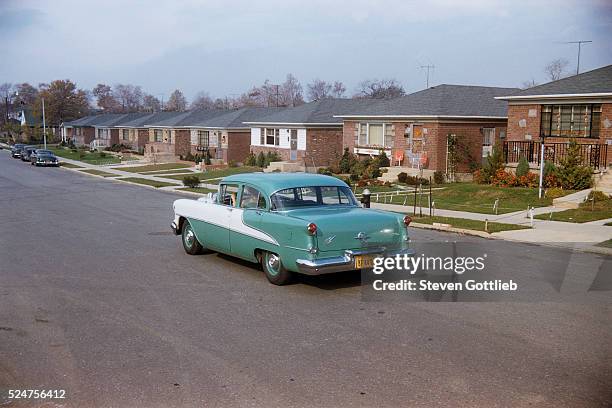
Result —
<path fill-rule="evenodd" d="M 609 0 L 0 0 L 0 82 L 71 79 L 235 96 L 291 72 L 359 81 L 519 86 L 556 58 L 612 64 Z"/>

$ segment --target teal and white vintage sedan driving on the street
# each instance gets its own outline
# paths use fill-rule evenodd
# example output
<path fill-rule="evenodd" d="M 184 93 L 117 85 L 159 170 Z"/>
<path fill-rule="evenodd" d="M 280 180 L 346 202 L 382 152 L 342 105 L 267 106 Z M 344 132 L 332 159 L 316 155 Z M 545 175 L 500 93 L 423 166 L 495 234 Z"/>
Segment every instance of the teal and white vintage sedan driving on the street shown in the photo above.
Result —
<path fill-rule="evenodd" d="M 223 178 L 218 193 L 173 207 L 172 229 L 188 254 L 209 249 L 261 263 L 276 285 L 294 272 L 370 268 L 375 257 L 412 253 L 410 217 L 362 208 L 330 176 L 238 174 Z"/>

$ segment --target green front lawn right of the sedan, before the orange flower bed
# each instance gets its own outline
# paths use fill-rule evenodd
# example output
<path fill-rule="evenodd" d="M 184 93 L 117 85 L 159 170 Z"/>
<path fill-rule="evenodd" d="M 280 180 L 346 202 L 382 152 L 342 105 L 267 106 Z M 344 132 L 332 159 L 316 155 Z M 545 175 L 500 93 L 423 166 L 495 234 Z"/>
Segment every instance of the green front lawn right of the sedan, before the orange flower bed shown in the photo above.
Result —
<path fill-rule="evenodd" d="M 499 198 L 498 214 L 527 210 L 527 207 L 546 207 L 552 205 L 551 198 L 538 199 L 537 188 L 496 187 L 476 183 L 449 183 L 432 186 L 432 200 L 436 208 L 455 211 L 469 211 L 495 214 L 493 204 Z M 567 194 L 572 191 L 568 191 Z M 417 196 L 417 206 L 428 206 L 429 186 L 423 186 L 423 194 Z M 393 204 L 414 206 L 414 195 L 394 196 Z M 382 201 L 382 198 L 380 199 Z"/>

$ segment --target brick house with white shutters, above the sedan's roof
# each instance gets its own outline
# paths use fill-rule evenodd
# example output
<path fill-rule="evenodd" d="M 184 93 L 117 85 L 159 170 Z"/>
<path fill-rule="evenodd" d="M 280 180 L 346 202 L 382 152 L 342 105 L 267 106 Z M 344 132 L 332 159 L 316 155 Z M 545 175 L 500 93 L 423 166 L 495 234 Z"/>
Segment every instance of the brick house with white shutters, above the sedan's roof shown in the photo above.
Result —
<path fill-rule="evenodd" d="M 251 151 L 256 155 L 273 151 L 283 161 L 306 167 L 329 166 L 342 155 L 342 119 L 334 115 L 365 103 L 363 99 L 322 99 L 247 121 Z"/>

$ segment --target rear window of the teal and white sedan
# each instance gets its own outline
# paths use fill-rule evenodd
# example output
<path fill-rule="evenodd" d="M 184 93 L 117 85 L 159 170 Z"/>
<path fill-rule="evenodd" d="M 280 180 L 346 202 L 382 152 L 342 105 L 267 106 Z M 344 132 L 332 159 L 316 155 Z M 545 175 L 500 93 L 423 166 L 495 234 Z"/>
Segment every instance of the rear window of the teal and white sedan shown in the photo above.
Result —
<path fill-rule="evenodd" d="M 357 205 L 351 189 L 338 186 L 287 188 L 272 194 L 270 199 L 272 209 L 279 211 L 302 207 Z"/>

